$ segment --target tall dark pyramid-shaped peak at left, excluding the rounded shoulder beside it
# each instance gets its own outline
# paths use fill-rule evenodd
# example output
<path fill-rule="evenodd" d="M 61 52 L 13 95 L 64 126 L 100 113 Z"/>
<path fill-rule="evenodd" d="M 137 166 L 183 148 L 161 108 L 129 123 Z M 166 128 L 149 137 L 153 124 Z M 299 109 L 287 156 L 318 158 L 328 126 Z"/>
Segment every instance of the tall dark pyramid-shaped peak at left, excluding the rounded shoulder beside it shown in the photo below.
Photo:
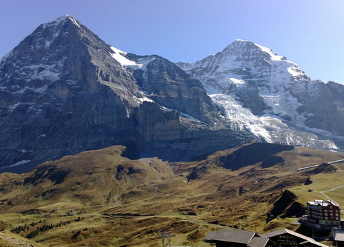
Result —
<path fill-rule="evenodd" d="M 111 53 L 74 18 L 61 17 L 40 25 L 2 59 L 3 166 L 29 169 L 130 138 L 129 113 L 143 96 Z"/>

